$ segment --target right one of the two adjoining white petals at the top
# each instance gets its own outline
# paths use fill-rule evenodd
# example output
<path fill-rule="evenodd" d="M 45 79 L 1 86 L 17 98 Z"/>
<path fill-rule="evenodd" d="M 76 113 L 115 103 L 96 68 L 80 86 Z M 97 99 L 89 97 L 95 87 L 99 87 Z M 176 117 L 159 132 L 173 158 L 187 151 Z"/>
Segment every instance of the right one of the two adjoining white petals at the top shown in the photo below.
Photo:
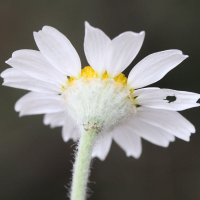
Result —
<path fill-rule="evenodd" d="M 130 65 L 142 46 L 144 35 L 144 31 L 128 31 L 112 40 L 105 55 L 105 66 L 110 77 L 117 76 Z"/>

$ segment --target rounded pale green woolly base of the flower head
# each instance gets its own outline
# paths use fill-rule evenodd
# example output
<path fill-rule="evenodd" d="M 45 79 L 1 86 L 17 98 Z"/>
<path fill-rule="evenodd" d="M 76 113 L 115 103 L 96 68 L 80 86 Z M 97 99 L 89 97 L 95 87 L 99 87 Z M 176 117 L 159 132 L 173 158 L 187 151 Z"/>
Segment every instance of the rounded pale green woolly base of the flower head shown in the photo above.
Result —
<path fill-rule="evenodd" d="M 136 112 L 131 91 L 114 79 L 85 78 L 75 80 L 63 90 L 63 105 L 79 127 L 105 133 Z"/>

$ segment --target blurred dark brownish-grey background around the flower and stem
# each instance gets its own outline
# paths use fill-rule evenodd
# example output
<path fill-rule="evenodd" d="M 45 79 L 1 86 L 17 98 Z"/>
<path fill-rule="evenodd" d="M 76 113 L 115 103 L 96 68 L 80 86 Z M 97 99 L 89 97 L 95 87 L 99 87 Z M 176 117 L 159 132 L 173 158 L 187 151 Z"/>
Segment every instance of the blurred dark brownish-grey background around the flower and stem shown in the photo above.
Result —
<path fill-rule="evenodd" d="M 32 32 L 44 25 L 64 33 L 82 66 L 87 65 L 86 20 L 110 38 L 127 30 L 146 31 L 144 45 L 126 75 L 148 54 L 182 50 L 189 58 L 153 86 L 200 93 L 199 0 L 1 0 L 0 72 L 9 67 L 5 60 L 13 51 L 37 49 Z M 0 87 L 0 199 L 68 199 L 75 145 L 62 141 L 61 128 L 44 126 L 41 115 L 18 117 L 14 104 L 25 93 Z M 136 160 L 113 142 L 106 160 L 93 162 L 90 199 L 200 199 L 200 108 L 181 114 L 196 126 L 189 143 L 176 139 L 161 148 L 143 140 L 142 156 Z"/>

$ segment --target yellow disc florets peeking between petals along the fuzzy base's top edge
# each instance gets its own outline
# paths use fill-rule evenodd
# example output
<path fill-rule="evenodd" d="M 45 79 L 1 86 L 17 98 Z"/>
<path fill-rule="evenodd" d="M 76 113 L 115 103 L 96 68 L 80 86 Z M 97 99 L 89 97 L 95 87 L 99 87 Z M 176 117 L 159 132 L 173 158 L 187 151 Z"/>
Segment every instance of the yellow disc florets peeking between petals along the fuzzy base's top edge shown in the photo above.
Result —
<path fill-rule="evenodd" d="M 94 69 L 92 69 L 92 67 L 90 66 L 86 66 L 81 70 L 81 77 L 83 77 L 85 80 L 87 80 L 88 78 L 98 78 L 97 73 L 94 71 Z M 102 76 L 102 79 L 109 79 L 109 76 L 107 74 L 107 71 L 105 71 L 105 73 Z M 74 81 L 76 79 L 74 77 L 70 77 L 69 78 L 69 85 L 73 85 Z M 127 78 L 124 74 L 119 74 L 118 76 L 116 76 L 114 78 L 114 80 L 116 81 L 116 83 L 122 84 L 124 86 L 127 85 Z"/>

